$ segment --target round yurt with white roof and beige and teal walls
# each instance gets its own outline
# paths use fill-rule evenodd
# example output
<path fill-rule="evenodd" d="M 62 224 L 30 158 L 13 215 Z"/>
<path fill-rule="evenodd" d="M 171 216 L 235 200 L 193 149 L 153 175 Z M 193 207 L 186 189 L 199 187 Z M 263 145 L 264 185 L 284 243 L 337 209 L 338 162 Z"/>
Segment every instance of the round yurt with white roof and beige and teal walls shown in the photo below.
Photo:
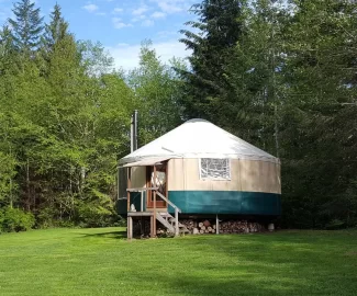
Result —
<path fill-rule="evenodd" d="M 121 215 L 280 215 L 279 159 L 204 119 L 141 147 L 120 168 Z"/>

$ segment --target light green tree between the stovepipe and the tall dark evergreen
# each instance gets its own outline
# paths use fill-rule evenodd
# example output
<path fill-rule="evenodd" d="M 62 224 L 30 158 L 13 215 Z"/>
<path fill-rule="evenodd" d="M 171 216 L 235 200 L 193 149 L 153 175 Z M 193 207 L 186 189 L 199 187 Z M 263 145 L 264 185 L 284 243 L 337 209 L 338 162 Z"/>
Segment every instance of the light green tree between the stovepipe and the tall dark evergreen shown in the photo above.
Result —
<path fill-rule="evenodd" d="M 140 67 L 132 70 L 127 78 L 141 116 L 141 145 L 161 136 L 181 122 L 181 80 L 172 66 L 185 70 L 185 65 L 177 59 L 171 61 L 172 66 L 163 64 L 150 46 L 150 42 L 142 45 Z"/>

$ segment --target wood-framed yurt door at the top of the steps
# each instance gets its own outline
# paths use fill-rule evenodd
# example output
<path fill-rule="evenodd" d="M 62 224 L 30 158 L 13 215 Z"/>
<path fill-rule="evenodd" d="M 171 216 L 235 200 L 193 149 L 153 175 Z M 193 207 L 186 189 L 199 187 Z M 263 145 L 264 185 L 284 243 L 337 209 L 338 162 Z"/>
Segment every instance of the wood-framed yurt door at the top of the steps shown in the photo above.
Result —
<path fill-rule="evenodd" d="M 146 185 L 147 187 L 158 187 L 158 192 L 167 196 L 167 166 L 166 163 L 156 166 L 156 180 L 154 180 L 154 167 L 146 169 Z M 154 193 L 152 190 L 147 192 L 147 207 L 154 207 Z M 166 208 L 166 202 L 156 195 L 156 207 Z"/>

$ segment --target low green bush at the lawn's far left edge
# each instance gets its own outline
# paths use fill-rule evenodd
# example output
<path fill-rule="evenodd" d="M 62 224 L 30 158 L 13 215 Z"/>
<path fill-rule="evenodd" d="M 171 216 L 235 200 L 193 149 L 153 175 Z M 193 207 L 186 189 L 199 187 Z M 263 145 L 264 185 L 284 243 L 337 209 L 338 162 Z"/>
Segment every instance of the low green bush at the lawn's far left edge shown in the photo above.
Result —
<path fill-rule="evenodd" d="M 0 226 L 4 232 L 26 231 L 35 225 L 34 216 L 22 209 L 8 207 L 0 213 Z"/>

